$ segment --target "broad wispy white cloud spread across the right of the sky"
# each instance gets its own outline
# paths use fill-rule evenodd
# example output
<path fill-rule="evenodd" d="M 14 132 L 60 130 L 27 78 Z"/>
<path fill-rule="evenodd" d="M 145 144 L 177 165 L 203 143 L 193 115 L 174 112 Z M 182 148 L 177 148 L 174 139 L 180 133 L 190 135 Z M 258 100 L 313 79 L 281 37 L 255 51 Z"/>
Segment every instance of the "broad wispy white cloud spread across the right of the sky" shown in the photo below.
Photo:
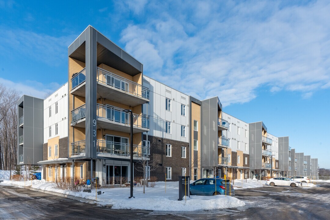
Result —
<path fill-rule="evenodd" d="M 261 87 L 303 98 L 329 88 L 328 2 L 150 2 L 144 11 L 144 23 L 122 31 L 125 49 L 146 75 L 197 98 L 229 105 Z"/>

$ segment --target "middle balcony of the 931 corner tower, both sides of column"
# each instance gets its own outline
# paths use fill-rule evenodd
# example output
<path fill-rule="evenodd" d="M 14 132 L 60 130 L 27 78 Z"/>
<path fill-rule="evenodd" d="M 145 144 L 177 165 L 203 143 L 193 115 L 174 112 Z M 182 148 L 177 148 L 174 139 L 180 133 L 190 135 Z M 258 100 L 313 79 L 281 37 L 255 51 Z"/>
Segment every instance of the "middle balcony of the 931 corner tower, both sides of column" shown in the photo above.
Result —
<path fill-rule="evenodd" d="M 129 112 L 121 109 L 105 106 L 101 104 L 96 105 L 97 115 L 97 129 L 108 129 L 124 133 L 130 133 L 130 120 Z M 71 126 L 84 128 L 85 127 L 85 105 L 72 110 Z M 141 116 L 133 113 L 133 133 L 142 133 L 149 131 L 149 117 Z"/>

